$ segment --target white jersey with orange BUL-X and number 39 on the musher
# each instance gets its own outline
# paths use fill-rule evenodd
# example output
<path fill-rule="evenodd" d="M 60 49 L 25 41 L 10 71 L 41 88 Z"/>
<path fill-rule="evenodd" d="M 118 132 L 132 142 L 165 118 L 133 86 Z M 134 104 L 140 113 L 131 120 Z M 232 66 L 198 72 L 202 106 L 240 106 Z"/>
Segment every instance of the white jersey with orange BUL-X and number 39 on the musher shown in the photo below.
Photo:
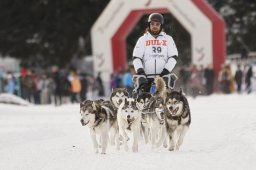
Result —
<path fill-rule="evenodd" d="M 178 50 L 171 36 L 161 32 L 157 38 L 149 32 L 139 38 L 133 50 L 133 65 L 137 71 L 143 68 L 147 75 L 160 74 L 164 68 L 172 71 Z"/>

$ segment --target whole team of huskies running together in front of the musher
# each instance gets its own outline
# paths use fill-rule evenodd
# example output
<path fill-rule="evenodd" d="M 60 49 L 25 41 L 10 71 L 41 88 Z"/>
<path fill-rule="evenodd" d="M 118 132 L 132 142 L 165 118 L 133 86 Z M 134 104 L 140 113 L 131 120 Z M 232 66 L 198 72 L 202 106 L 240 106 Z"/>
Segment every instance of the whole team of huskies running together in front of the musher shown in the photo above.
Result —
<path fill-rule="evenodd" d="M 80 103 L 80 121 L 89 127 L 96 153 L 101 149 L 105 154 L 108 143 L 128 151 L 130 138 L 132 151 L 138 152 L 141 135 L 152 149 L 168 146 L 170 151 L 179 150 L 191 122 L 188 101 L 181 90 L 166 89 L 161 77 L 155 84 L 154 94 L 143 92 L 135 99 L 129 98 L 125 88 L 117 88 L 110 100 Z"/>

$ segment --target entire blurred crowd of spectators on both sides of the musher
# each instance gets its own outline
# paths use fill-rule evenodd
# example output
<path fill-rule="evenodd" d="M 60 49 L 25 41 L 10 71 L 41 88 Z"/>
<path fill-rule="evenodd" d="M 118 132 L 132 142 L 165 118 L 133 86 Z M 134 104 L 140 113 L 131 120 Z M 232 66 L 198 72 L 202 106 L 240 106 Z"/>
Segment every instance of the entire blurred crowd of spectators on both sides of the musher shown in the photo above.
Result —
<path fill-rule="evenodd" d="M 249 63 L 235 61 L 224 64 L 217 75 L 211 65 L 206 68 L 195 65 L 177 67 L 175 72 L 179 79 L 175 88 L 182 88 L 186 95 L 193 97 L 212 93 L 249 94 L 256 86 L 256 77 Z M 58 106 L 63 103 L 79 103 L 85 99 L 106 97 L 107 91 L 113 88 L 125 87 L 131 94 L 134 73 L 132 67 L 119 69 L 111 74 L 106 86 L 101 73 L 96 76 L 81 74 L 76 69 L 56 66 L 44 73 L 37 73 L 32 68 L 22 68 L 18 74 L 0 74 L 0 93 L 15 94 L 34 104 L 53 103 Z"/>

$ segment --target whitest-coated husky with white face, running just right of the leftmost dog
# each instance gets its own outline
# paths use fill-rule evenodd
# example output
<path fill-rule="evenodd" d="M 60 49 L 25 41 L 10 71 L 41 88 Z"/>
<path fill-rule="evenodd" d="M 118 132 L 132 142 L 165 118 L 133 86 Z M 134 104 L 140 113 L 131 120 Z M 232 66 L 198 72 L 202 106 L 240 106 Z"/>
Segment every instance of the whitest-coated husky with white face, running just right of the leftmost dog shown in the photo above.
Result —
<path fill-rule="evenodd" d="M 128 151 L 127 140 L 129 139 L 127 131 L 133 135 L 132 151 L 138 152 L 138 142 L 141 128 L 141 111 L 133 98 L 125 98 L 120 104 L 117 112 L 117 122 L 119 133 L 124 138 L 124 149 Z"/>

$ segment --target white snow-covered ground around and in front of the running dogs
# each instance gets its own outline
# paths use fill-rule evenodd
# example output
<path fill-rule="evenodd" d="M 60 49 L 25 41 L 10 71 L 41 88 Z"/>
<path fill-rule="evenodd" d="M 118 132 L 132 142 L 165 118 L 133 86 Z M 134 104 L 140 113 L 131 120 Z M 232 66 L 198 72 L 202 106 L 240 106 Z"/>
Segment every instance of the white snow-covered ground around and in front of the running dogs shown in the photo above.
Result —
<path fill-rule="evenodd" d="M 256 95 L 189 98 L 192 124 L 180 151 L 95 154 L 78 104 L 55 107 L 0 104 L 1 170 L 253 170 Z"/>

